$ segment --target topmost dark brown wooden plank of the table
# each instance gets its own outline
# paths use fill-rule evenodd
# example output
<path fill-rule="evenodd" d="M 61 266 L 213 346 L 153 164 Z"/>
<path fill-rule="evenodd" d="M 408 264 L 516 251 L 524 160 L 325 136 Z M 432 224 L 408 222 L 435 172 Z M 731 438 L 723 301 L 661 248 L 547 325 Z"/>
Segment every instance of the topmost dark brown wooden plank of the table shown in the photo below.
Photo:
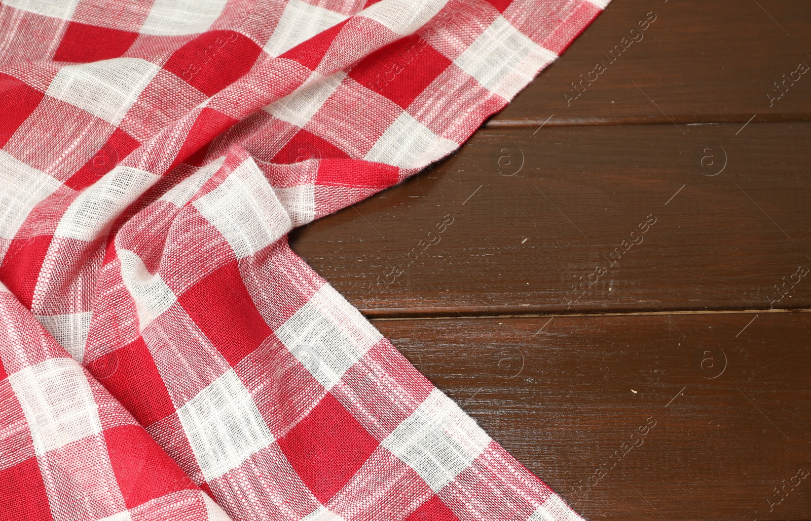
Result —
<path fill-rule="evenodd" d="M 808 121 L 809 23 L 796 0 L 614 0 L 487 125 Z"/>

